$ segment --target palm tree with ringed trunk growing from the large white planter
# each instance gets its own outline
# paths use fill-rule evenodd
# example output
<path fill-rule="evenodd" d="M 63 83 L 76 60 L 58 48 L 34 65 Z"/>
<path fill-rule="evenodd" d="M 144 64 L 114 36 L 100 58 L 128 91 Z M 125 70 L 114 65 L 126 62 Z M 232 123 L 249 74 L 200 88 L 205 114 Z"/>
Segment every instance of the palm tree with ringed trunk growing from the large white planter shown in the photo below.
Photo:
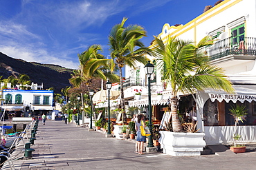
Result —
<path fill-rule="evenodd" d="M 211 45 L 212 41 L 205 36 L 197 45 L 192 41 L 183 41 L 176 37 L 163 43 L 155 37 L 154 52 L 158 55 L 158 68 L 163 80 L 172 87 L 171 111 L 173 131 L 182 131 L 177 114 L 178 92 L 194 94 L 195 90 L 205 88 L 223 89 L 232 93 L 234 89 L 220 67 L 210 65 L 208 56 L 203 56 L 199 48 Z"/>

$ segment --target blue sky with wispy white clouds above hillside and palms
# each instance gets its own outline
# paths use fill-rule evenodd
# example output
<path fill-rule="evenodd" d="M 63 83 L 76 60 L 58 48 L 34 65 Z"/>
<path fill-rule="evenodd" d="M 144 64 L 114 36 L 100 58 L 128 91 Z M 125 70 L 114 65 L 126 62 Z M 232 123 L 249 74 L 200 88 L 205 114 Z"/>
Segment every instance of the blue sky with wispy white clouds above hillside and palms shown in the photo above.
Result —
<path fill-rule="evenodd" d="M 77 69 L 77 54 L 102 45 L 123 17 L 147 30 L 148 46 L 165 23 L 185 24 L 218 0 L 0 0 L 0 52 L 15 59 Z"/>

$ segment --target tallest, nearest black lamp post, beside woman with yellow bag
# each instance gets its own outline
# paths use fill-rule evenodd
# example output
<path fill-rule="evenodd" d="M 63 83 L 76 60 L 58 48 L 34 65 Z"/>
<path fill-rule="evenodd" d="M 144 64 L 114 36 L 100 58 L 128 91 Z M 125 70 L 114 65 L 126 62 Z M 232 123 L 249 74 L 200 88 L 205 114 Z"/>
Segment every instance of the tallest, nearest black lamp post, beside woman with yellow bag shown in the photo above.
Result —
<path fill-rule="evenodd" d="M 149 131 L 152 134 L 152 105 L 151 105 L 151 89 L 150 89 L 150 76 L 154 72 L 154 65 L 148 61 L 145 65 L 145 72 L 147 74 L 147 87 L 148 87 L 148 100 L 149 100 Z M 152 135 L 149 136 L 149 143 L 147 147 L 154 147 Z"/>

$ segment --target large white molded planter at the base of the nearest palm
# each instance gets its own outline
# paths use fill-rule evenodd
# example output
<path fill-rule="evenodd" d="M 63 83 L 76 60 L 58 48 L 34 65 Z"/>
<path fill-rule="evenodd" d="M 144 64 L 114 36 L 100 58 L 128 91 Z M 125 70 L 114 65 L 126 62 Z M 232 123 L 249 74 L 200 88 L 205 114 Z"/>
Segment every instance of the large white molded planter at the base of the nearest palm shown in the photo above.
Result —
<path fill-rule="evenodd" d="M 159 131 L 161 138 L 159 143 L 163 153 L 172 156 L 200 156 L 206 143 L 203 140 L 204 133 L 183 133 L 171 131 Z"/>

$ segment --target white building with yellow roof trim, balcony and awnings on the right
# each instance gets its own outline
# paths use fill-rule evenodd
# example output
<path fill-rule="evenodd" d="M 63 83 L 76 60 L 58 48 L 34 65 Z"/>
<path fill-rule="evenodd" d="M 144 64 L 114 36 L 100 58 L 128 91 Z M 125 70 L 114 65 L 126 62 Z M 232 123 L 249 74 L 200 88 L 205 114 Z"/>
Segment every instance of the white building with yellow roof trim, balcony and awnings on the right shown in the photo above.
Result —
<path fill-rule="evenodd" d="M 233 96 L 224 92 L 214 92 L 211 89 L 196 93 L 196 103 L 191 103 L 188 111 L 196 112 L 196 120 L 200 131 L 205 132 L 205 142 L 208 145 L 230 144 L 234 131 L 234 120 L 228 109 L 234 103 L 246 105 L 248 114 L 246 121 L 240 123 L 239 134 L 243 142 L 256 142 L 256 1 L 255 0 L 225 0 L 199 17 L 185 25 L 163 25 L 159 37 L 166 41 L 169 36 L 192 40 L 198 43 L 204 36 L 211 36 L 214 44 L 205 47 L 205 55 L 210 56 L 211 63 L 222 67 L 233 83 L 236 94 Z M 152 63 L 156 62 L 149 56 Z M 147 106 L 147 78 L 138 64 L 136 69 L 126 67 L 125 87 L 128 92 L 125 98 L 129 107 Z M 127 83 L 128 82 L 128 83 Z M 156 68 L 152 76 L 152 105 L 166 105 L 170 98 L 168 85 L 161 80 L 161 74 Z M 125 85 L 125 84 L 124 84 Z M 142 98 L 133 100 L 133 90 L 142 89 Z M 163 98 L 158 98 L 156 92 L 163 91 Z M 184 96 L 184 95 L 183 95 Z M 196 106 L 193 109 L 194 105 Z M 154 109 L 154 108 L 153 108 Z M 153 110 L 155 118 L 164 116 L 161 108 Z M 158 115 L 161 113 L 160 115 Z M 153 118 L 154 120 L 154 118 Z"/>

